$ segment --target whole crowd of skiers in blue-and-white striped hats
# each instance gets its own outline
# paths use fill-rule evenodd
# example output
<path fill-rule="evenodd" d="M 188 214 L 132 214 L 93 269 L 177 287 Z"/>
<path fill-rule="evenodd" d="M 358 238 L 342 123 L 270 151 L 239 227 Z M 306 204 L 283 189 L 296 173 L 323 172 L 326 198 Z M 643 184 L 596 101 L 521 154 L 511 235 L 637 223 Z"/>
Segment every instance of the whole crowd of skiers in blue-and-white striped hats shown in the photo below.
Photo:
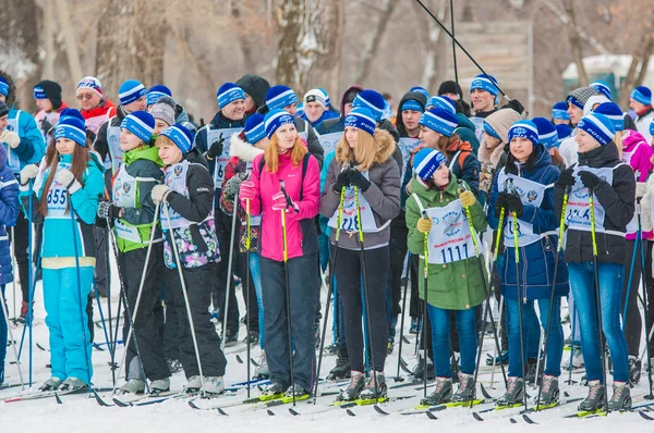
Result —
<path fill-rule="evenodd" d="M 0 284 L 12 282 L 15 259 L 19 320 L 29 323 L 43 279 L 44 391 L 93 382 L 92 296 L 110 294 L 110 255 L 124 301 L 123 393 L 168 391 L 180 363 L 185 391 L 223 391 L 211 320 L 225 345 L 238 342 L 234 275 L 253 300 L 245 344 L 262 349 L 269 394 L 316 386 L 323 275 L 336 317 L 331 376 L 350 378 L 342 400 L 387 395 L 402 297 L 410 332 L 422 332 L 414 373 L 435 380 L 431 405 L 474 399 L 480 338 L 496 325 L 491 297 L 502 331 L 493 362 L 508 363 L 499 405 L 525 398 L 538 362 L 540 404 L 558 399 L 564 297 L 571 362 L 586 371 L 581 408 L 631 405 L 643 334 L 652 363 L 646 87 L 633 89 L 629 114 L 593 83 L 554 104 L 550 119 L 528 120 L 517 100 L 499 107 L 485 74 L 472 81 L 472 106 L 444 82 L 436 96 L 411 88 L 395 113 L 358 85 L 336 110 L 322 88 L 300 100 L 246 74 L 220 86 L 218 111 L 199 127 L 168 87 L 135 79 L 120 86 L 118 106 L 90 76 L 76 88 L 80 110 L 50 81 L 34 87 L 35 115 L 15 96 L 0 72 Z"/>

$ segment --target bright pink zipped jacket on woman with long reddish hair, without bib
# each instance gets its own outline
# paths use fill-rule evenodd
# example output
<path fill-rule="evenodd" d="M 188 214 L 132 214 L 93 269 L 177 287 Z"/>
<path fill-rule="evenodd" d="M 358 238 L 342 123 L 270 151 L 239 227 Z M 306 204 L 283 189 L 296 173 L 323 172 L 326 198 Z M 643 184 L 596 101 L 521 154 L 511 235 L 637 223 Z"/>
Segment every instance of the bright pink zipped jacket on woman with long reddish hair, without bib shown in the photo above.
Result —
<path fill-rule="evenodd" d="M 283 260 L 283 236 L 281 228 L 281 212 L 272 210 L 272 196 L 280 191 L 279 181 L 284 182 L 284 188 L 291 199 L 298 203 L 300 212 L 287 212 L 287 245 L 288 258 L 302 257 L 303 235 L 300 220 L 313 219 L 318 214 L 320 201 L 320 170 L 318 161 L 308 157 L 306 173 L 302 178 L 302 163 L 293 166 L 290 154 L 279 156 L 277 173 L 267 172 L 265 165 L 259 171 L 261 154 L 252 162 L 250 181 L 256 189 L 256 197 L 251 202 L 251 213 L 262 215 L 259 253 L 267 259 Z M 263 172 L 263 173 L 262 173 Z M 300 200 L 300 186 L 303 198 Z M 245 207 L 245 200 L 241 203 Z"/>

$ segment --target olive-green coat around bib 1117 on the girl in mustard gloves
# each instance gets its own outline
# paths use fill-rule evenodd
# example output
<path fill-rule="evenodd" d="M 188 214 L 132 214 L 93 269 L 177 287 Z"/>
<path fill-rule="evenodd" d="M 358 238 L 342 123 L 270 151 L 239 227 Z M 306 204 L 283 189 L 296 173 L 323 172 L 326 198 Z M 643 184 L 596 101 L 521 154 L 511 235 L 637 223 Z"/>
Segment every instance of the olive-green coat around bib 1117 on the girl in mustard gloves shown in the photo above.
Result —
<path fill-rule="evenodd" d="M 461 181 L 462 184 L 464 184 Z M 452 174 L 451 182 L 439 191 L 427 188 L 422 182 L 415 177 L 411 180 L 411 191 L 414 193 L 424 209 L 443 208 L 459 198 L 459 181 Z M 468 187 L 468 185 L 465 185 Z M 479 201 L 471 208 L 473 226 L 476 232 L 482 232 L 486 228 L 486 216 Z M 420 207 L 415 201 L 415 197 L 411 195 L 407 200 L 407 227 L 409 228 L 408 246 L 411 253 L 423 256 L 425 236 L 416 228 L 417 220 L 421 218 Z M 481 245 L 480 245 L 481 248 Z M 427 273 L 427 301 L 431 306 L 445 310 L 467 310 L 482 304 L 485 299 L 484 282 L 480 274 L 477 261 L 482 260 L 483 256 L 477 259 L 474 251 L 471 251 L 471 258 L 455 261 L 447 264 L 429 264 Z M 420 260 L 420 283 L 419 294 L 421 299 L 424 298 L 424 279 L 423 279 L 423 259 Z M 484 280 L 486 274 L 484 270 Z M 487 280 L 486 280 L 487 281 Z"/>

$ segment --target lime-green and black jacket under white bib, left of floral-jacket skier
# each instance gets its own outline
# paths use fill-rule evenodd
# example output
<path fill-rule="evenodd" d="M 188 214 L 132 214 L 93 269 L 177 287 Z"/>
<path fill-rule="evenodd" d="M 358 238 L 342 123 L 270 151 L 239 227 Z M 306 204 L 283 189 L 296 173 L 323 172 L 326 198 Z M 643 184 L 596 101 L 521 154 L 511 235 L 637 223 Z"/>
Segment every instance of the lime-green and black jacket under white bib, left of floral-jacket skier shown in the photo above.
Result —
<path fill-rule="evenodd" d="M 123 153 L 123 164 L 128 174 L 133 177 L 152 177 L 156 180 L 156 182 L 136 181 L 136 207 L 122 208 L 122 216 L 119 221 L 128 226 L 137 227 L 142 240 L 141 243 L 135 243 L 117 237 L 118 249 L 121 252 L 128 252 L 145 248 L 149 242 L 156 210 L 150 193 L 155 185 L 164 183 L 164 171 L 161 170 L 164 162 L 159 158 L 156 147 L 146 146 Z M 160 237 L 160 235 L 157 236 L 155 234 L 155 239 L 159 239 Z"/>

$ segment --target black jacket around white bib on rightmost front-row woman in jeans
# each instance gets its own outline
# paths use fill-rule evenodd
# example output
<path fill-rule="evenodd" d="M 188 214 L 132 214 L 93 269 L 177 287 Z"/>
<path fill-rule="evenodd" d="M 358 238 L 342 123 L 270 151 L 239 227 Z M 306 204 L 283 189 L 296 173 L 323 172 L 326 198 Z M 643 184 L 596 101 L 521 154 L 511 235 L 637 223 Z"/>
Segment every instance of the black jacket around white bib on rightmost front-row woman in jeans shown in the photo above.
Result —
<path fill-rule="evenodd" d="M 635 178 L 629 164 L 621 163 L 618 148 L 610 141 L 590 152 L 579 153 L 579 168 L 594 169 L 617 166 L 614 170 L 613 183 L 603 181 L 595 187 L 594 195 L 606 212 L 604 227 L 607 231 L 625 233 L 627 224 L 633 218 L 635 208 Z M 554 214 L 561 214 L 564 189 L 554 186 Z M 623 235 L 596 233 L 597 260 L 607 263 L 625 263 L 627 245 Z M 570 230 L 567 231 L 566 261 L 569 263 L 593 261 L 593 242 L 591 232 Z"/>

